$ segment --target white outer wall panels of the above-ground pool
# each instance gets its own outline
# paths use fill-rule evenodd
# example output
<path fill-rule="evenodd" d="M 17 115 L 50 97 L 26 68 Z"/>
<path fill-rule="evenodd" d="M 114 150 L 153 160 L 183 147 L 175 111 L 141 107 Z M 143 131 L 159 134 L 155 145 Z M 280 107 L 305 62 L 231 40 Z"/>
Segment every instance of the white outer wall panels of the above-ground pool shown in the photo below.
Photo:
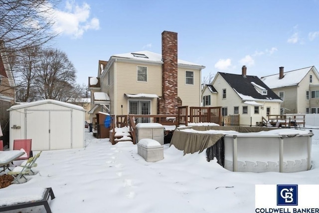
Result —
<path fill-rule="evenodd" d="M 234 172 L 301 172 L 311 168 L 312 134 L 225 135 L 224 168 Z"/>

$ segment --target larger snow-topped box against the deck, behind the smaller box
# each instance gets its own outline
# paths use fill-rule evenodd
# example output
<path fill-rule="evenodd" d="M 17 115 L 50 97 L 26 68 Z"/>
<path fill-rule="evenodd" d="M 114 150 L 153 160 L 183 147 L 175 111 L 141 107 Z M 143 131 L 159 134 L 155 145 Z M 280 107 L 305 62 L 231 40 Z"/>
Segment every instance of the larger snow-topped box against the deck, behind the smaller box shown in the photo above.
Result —
<path fill-rule="evenodd" d="M 136 141 L 144 138 L 156 140 L 164 145 L 164 127 L 159 123 L 138 123 L 136 125 Z"/>

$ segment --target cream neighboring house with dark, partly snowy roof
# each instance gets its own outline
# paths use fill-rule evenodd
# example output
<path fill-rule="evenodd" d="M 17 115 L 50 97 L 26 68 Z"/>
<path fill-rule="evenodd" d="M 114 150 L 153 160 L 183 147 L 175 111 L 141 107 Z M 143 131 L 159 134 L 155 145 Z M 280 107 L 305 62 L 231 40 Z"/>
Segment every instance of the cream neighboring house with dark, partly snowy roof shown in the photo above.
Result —
<path fill-rule="evenodd" d="M 256 125 L 262 117 L 278 114 L 282 100 L 257 76 L 217 72 L 210 106 L 222 106 L 222 115 L 240 115 L 240 125 Z M 204 91 L 205 92 L 205 91 Z M 203 93 L 203 99 L 208 93 Z"/>

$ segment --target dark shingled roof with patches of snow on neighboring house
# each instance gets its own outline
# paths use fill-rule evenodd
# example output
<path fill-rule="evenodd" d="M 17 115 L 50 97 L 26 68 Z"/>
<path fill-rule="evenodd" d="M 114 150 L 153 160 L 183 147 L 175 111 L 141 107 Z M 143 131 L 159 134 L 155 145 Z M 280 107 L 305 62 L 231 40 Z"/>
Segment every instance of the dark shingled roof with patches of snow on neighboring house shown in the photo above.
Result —
<path fill-rule="evenodd" d="M 257 76 L 252 75 L 238 75 L 231 73 L 218 72 L 230 87 L 238 94 L 243 101 L 267 101 L 267 102 L 282 102 L 263 81 Z M 256 90 L 262 88 L 267 91 L 267 94 L 262 94 Z"/>

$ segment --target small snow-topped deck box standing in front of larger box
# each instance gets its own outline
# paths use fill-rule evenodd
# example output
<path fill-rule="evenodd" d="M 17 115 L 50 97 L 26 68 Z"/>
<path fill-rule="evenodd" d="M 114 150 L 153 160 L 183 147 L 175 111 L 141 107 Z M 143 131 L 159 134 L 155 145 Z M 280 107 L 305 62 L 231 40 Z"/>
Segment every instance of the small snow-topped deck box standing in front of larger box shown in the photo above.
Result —
<path fill-rule="evenodd" d="M 138 143 L 138 154 L 147 162 L 157 162 L 164 159 L 163 147 L 153 139 L 142 139 Z"/>

